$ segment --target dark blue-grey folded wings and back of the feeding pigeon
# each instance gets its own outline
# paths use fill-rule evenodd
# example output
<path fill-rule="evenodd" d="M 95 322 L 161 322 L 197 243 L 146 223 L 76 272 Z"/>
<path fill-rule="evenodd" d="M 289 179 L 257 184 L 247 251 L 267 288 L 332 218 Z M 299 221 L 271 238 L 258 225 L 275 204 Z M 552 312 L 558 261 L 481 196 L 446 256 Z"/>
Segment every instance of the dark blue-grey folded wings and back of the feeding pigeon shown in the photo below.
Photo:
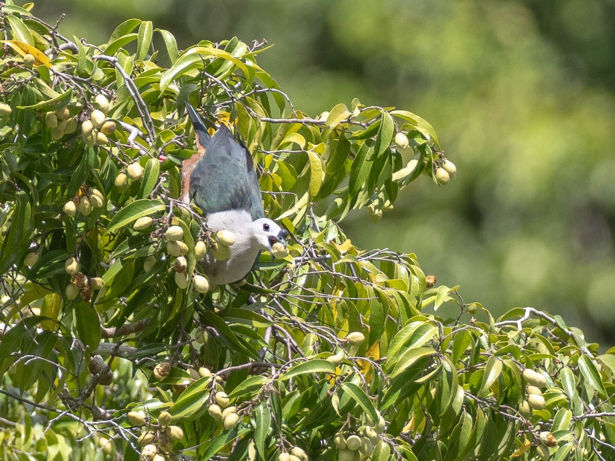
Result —
<path fill-rule="evenodd" d="M 192 170 L 189 194 L 206 215 L 245 210 L 252 219 L 264 216 L 252 156 L 224 125 L 212 136 L 207 152 Z"/>

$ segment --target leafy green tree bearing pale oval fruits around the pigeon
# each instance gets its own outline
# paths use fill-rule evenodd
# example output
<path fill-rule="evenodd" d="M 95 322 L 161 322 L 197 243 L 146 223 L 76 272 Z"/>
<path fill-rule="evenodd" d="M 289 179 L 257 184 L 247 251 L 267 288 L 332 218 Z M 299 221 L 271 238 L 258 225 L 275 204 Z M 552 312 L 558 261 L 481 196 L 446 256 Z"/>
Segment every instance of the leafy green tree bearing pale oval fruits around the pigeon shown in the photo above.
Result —
<path fill-rule="evenodd" d="M 309 117 L 263 44 L 180 52 L 132 19 L 92 45 L 31 8 L 2 4 L 3 459 L 615 459 L 613 351 L 530 307 L 495 319 L 339 227 L 454 176 L 425 120 Z M 216 236 L 179 200 L 187 100 L 245 140 L 292 235 L 234 285 L 197 277 Z"/>

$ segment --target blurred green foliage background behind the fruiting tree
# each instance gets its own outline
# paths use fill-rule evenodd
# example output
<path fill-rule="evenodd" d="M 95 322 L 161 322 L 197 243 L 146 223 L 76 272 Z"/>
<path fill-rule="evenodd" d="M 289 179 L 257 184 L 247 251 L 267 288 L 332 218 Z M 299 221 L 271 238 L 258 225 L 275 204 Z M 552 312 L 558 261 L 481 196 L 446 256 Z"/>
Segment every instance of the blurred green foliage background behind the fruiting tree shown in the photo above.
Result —
<path fill-rule="evenodd" d="M 130 17 L 180 48 L 265 38 L 275 46 L 259 63 L 297 108 L 358 97 L 420 114 L 457 178 L 419 178 L 378 224 L 355 212 L 352 240 L 416 253 L 494 313 L 531 305 L 615 344 L 614 2 L 52 0 L 34 12 L 66 13 L 60 31 L 89 42 Z"/>

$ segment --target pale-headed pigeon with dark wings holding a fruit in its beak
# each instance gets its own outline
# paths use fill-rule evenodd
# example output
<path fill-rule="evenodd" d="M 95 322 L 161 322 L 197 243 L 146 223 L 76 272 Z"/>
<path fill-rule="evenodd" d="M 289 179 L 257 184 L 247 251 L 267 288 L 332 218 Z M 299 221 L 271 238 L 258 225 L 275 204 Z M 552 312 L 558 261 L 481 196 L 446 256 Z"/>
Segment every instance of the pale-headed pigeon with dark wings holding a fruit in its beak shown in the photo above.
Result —
<path fill-rule="evenodd" d="M 276 242 L 285 246 L 288 232 L 264 217 L 252 156 L 244 144 L 222 124 L 210 136 L 196 110 L 187 101 L 186 106 L 197 154 L 183 162 L 182 199 L 194 200 L 209 229 L 229 230 L 235 240 L 228 259 L 218 261 L 209 252 L 199 264 L 216 285 L 237 282 L 250 272 L 262 250 L 271 252 Z"/>

